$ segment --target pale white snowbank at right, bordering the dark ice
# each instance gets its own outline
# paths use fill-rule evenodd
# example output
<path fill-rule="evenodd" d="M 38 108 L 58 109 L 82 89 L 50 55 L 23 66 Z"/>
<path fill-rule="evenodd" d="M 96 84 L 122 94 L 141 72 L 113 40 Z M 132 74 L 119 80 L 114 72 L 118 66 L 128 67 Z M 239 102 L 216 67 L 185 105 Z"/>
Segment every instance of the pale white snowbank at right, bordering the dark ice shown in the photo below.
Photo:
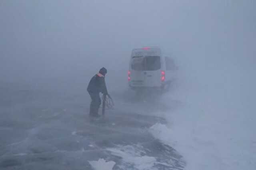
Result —
<path fill-rule="evenodd" d="M 254 69 L 246 57 L 229 59 L 212 62 L 214 70 L 202 63 L 191 63 L 195 72 L 183 67 L 177 88 L 163 97 L 181 104 L 155 113 L 169 124 L 152 126 L 152 134 L 184 156 L 187 170 L 256 169 Z"/>

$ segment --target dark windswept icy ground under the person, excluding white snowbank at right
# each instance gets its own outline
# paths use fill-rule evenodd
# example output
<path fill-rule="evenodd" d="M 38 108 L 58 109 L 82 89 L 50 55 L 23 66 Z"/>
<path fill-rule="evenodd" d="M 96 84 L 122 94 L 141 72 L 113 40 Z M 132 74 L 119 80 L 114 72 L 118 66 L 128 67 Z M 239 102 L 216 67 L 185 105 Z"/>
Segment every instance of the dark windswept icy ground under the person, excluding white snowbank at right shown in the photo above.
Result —
<path fill-rule="evenodd" d="M 161 117 L 117 107 L 92 122 L 83 93 L 13 84 L 1 84 L 0 92 L 0 169 L 184 169 L 182 156 L 150 131 L 166 124 Z"/>

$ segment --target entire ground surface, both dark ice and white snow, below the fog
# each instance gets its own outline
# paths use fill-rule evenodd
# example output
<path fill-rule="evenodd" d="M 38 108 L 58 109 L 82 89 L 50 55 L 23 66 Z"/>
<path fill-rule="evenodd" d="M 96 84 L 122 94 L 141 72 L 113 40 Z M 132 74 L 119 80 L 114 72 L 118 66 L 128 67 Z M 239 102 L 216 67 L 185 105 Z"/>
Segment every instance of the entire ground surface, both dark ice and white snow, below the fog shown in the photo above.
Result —
<path fill-rule="evenodd" d="M 115 110 L 94 123 L 84 94 L 1 84 L 0 169 L 254 170 L 255 81 L 230 72 L 180 74 L 146 100 L 112 92 Z"/>

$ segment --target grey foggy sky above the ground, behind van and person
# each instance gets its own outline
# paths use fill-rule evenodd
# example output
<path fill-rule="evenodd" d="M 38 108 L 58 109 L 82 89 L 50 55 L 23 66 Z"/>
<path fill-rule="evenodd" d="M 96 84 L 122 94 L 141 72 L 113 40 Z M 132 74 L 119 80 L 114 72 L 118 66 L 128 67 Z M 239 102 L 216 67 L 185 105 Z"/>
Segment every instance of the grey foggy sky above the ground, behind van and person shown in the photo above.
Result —
<path fill-rule="evenodd" d="M 195 73 L 226 63 L 250 73 L 255 7 L 253 0 L 2 0 L 0 80 L 87 83 L 105 66 L 110 90 L 123 88 L 131 50 L 143 46 L 162 47 Z"/>

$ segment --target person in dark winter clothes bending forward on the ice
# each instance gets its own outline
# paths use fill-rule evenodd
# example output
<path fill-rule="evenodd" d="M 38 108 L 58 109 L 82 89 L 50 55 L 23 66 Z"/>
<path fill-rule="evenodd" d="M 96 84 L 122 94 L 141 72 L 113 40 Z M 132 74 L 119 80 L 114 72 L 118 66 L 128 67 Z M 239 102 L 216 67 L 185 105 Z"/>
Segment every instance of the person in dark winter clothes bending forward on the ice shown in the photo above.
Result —
<path fill-rule="evenodd" d="M 92 98 L 92 102 L 90 104 L 90 116 L 98 117 L 98 114 L 101 100 L 100 100 L 100 92 L 103 94 L 108 94 L 106 83 L 105 83 L 105 75 L 107 74 L 107 69 L 102 67 L 98 74 L 95 74 L 88 84 L 87 91 Z"/>

